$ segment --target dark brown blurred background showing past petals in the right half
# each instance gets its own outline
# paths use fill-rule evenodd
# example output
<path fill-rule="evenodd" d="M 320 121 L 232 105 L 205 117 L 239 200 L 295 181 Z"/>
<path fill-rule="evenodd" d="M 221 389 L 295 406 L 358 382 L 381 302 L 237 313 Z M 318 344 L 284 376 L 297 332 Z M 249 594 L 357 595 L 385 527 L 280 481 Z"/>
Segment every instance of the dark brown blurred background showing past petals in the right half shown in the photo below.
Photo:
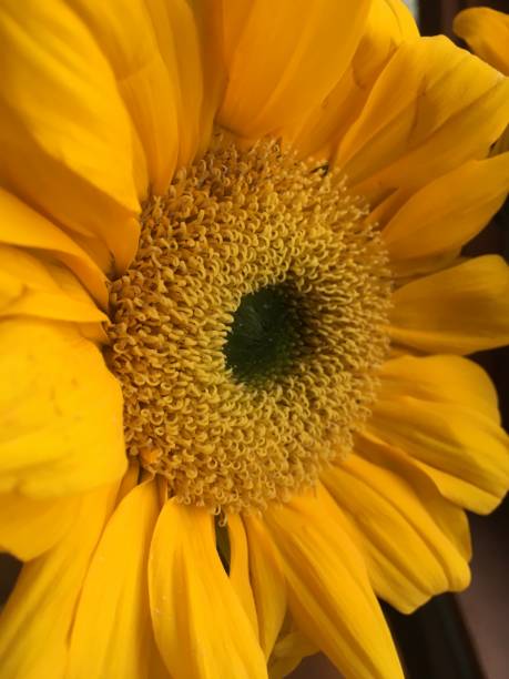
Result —
<path fill-rule="evenodd" d="M 509 12 L 509 0 L 405 0 L 424 36 L 445 33 L 456 42 L 452 19 L 469 7 Z M 465 47 L 465 45 L 462 45 Z M 508 45 L 509 50 L 509 45 Z M 469 255 L 509 259 L 509 204 L 466 249 Z M 475 358 L 491 375 L 509 430 L 509 348 Z M 408 679 L 509 679 L 509 500 L 490 516 L 470 515 L 472 582 L 458 596 L 437 597 L 411 616 L 385 608 Z M 339 679 L 323 656 L 305 659 L 292 679 Z"/>

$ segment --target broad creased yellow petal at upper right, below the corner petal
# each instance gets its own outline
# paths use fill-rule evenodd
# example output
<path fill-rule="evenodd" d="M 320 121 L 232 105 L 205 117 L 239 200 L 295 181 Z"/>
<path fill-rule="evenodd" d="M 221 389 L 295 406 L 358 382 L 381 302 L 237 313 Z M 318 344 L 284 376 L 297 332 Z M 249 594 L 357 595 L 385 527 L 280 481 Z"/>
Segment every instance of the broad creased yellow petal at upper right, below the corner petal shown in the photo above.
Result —
<path fill-rule="evenodd" d="M 336 163 L 371 205 L 487 155 L 509 115 L 509 82 L 444 37 L 404 42 Z"/>

